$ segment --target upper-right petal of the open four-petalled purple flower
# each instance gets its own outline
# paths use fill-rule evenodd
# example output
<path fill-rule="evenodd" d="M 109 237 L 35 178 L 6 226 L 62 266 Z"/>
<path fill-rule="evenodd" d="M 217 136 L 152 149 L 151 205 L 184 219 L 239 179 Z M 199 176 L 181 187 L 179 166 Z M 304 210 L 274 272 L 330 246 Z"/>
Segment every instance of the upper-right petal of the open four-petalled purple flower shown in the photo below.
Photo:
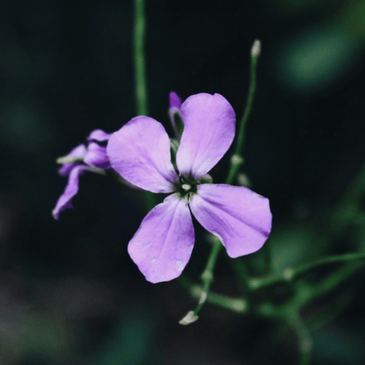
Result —
<path fill-rule="evenodd" d="M 181 105 L 184 132 L 177 151 L 179 172 L 200 179 L 223 158 L 234 140 L 236 115 L 219 94 L 197 94 Z"/>

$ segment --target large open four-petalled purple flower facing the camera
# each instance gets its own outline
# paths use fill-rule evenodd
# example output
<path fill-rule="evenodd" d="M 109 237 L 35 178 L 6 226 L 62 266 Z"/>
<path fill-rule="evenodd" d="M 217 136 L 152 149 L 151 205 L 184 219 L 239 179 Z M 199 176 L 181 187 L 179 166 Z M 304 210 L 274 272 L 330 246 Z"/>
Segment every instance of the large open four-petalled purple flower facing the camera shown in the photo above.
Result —
<path fill-rule="evenodd" d="M 218 94 L 192 95 L 181 105 L 181 116 L 178 171 L 168 135 L 153 118 L 133 118 L 107 146 L 112 168 L 131 184 L 173 193 L 147 214 L 128 244 L 131 259 L 152 283 L 175 279 L 188 263 L 194 245 L 191 214 L 230 257 L 257 251 L 271 230 L 268 199 L 249 188 L 199 181 L 234 140 L 236 116 L 228 101 Z"/>

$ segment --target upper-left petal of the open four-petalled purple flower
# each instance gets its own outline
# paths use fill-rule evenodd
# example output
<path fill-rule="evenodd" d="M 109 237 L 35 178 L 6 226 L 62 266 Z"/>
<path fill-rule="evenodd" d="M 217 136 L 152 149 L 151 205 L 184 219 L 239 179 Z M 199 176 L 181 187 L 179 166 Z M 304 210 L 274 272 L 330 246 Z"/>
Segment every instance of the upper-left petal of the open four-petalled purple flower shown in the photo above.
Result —
<path fill-rule="evenodd" d="M 178 180 L 171 163 L 170 140 L 162 124 L 136 116 L 110 137 L 112 168 L 131 184 L 151 192 L 172 192 Z"/>

